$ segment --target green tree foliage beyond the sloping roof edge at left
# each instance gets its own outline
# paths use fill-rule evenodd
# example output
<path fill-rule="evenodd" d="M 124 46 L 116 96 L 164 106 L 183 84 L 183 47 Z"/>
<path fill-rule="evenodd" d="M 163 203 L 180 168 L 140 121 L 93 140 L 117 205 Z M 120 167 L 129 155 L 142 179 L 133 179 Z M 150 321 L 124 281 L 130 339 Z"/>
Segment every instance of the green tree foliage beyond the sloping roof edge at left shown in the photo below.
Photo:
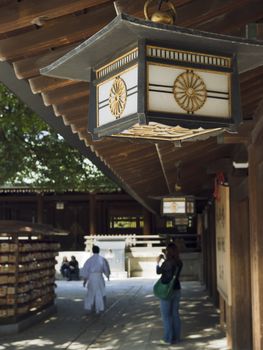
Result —
<path fill-rule="evenodd" d="M 116 190 L 80 152 L 0 85 L 0 186 Z"/>

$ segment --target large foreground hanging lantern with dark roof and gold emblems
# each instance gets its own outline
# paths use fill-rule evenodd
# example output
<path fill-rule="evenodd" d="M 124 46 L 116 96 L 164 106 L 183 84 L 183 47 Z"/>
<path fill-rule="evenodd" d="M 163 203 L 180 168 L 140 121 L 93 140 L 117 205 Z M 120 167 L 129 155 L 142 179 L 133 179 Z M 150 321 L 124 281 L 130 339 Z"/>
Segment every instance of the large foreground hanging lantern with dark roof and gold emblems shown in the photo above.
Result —
<path fill-rule="evenodd" d="M 261 64 L 263 42 L 120 14 L 41 73 L 90 82 L 87 128 L 95 139 L 144 138 L 156 124 L 235 129 L 238 74 Z"/>

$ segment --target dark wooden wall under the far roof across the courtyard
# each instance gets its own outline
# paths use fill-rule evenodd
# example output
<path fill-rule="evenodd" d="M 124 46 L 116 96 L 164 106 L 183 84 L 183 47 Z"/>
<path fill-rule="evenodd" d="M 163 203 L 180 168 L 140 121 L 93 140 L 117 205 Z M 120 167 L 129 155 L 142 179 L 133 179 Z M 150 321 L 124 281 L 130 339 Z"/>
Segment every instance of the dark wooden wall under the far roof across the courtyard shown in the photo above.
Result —
<path fill-rule="evenodd" d="M 56 204 L 62 202 L 59 210 Z M 113 217 L 136 222 L 135 227 L 112 227 Z M 164 218 L 152 214 L 126 193 L 2 193 L 0 220 L 22 220 L 49 224 L 68 231 L 62 249 L 84 249 L 84 236 L 91 234 L 177 234 Z M 127 221 L 128 221 L 127 220 Z M 196 233 L 196 220 L 186 233 Z"/>

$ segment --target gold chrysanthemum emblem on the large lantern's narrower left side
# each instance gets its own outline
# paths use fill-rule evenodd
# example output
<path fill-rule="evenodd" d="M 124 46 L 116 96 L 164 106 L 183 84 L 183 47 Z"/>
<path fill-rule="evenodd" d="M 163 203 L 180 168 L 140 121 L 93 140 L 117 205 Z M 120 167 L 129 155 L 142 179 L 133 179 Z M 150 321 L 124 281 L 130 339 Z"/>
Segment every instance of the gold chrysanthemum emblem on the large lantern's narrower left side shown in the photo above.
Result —
<path fill-rule="evenodd" d="M 116 77 L 111 86 L 110 96 L 109 96 L 109 105 L 112 115 L 116 119 L 120 118 L 122 115 L 127 101 L 127 87 L 125 81 Z"/>

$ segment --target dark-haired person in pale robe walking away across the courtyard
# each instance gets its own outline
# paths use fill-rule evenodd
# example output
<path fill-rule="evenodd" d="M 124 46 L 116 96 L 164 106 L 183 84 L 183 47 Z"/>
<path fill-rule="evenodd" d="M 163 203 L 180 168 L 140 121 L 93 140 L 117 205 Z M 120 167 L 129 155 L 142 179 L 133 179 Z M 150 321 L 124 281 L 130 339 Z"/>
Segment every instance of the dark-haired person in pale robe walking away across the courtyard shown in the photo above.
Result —
<path fill-rule="evenodd" d="M 98 314 L 105 310 L 106 288 L 103 274 L 109 280 L 110 266 L 108 261 L 99 254 L 100 248 L 92 247 L 93 255 L 85 262 L 81 269 L 83 287 L 87 287 L 84 299 L 84 309 L 89 313 L 93 309 Z"/>

